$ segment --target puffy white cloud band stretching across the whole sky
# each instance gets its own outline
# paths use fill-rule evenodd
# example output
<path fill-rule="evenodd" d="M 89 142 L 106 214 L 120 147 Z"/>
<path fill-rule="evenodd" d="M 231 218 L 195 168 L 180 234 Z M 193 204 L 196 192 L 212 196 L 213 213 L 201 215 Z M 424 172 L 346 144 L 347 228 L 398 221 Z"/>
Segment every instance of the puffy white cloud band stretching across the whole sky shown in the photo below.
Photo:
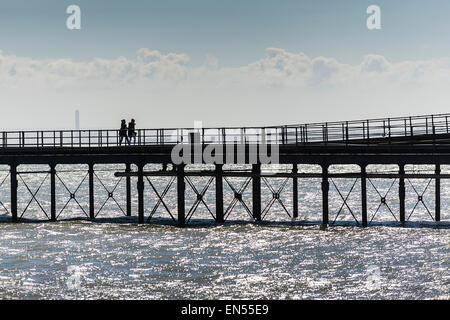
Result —
<path fill-rule="evenodd" d="M 219 68 L 218 60 L 208 56 L 201 67 L 189 66 L 186 54 L 163 54 L 140 49 L 128 59 L 96 58 L 86 62 L 70 59 L 35 60 L 0 51 L 0 86 L 21 84 L 64 87 L 92 84 L 205 85 L 211 83 L 252 87 L 308 88 L 320 85 L 360 84 L 362 81 L 389 81 L 391 85 L 441 82 L 450 79 L 450 60 L 391 63 L 379 55 L 367 55 L 359 65 L 348 65 L 334 58 L 310 58 L 279 48 L 266 50 L 266 57 L 237 68 Z"/>

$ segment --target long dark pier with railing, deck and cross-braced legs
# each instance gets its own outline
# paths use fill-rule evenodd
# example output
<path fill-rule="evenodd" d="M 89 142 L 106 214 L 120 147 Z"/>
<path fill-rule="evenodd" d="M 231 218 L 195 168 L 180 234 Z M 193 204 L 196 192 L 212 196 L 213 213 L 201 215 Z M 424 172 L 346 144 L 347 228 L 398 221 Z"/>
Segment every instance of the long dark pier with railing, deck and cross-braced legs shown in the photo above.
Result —
<path fill-rule="evenodd" d="M 278 203 L 285 213 L 297 219 L 301 217 L 299 210 L 299 179 L 320 180 L 322 225 L 333 224 L 336 212 L 330 212 L 329 192 L 335 187 L 342 199 L 343 208 L 347 208 L 356 223 L 367 227 L 376 218 L 376 213 L 369 215 L 367 189 L 372 185 L 379 196 L 379 207 L 387 206 L 393 219 L 406 222 L 414 213 L 406 212 L 405 185 L 414 183 L 415 179 L 434 181 L 434 208 L 428 208 L 424 203 L 424 193 L 414 189 L 417 193 L 417 204 L 423 204 L 429 216 L 429 221 L 441 221 L 441 180 L 449 179 L 450 174 L 442 172 L 442 166 L 450 165 L 450 114 L 366 119 L 343 122 L 309 123 L 297 125 L 282 125 L 268 127 L 225 127 L 225 128 L 164 128 L 139 129 L 136 142 L 128 145 L 125 141 L 120 145 L 118 130 L 56 130 L 56 131 L 9 131 L 0 133 L 0 164 L 9 166 L 10 179 L 10 209 L 5 210 L 11 216 L 11 221 L 18 222 L 22 214 L 18 212 L 18 184 L 26 182 L 21 178 L 23 174 L 46 174 L 50 183 L 50 211 L 46 212 L 36 199 L 35 191 L 27 185 L 26 188 L 36 200 L 46 220 L 56 221 L 59 213 L 57 202 L 66 203 L 73 200 L 80 205 L 77 190 L 69 190 L 69 199 L 58 199 L 56 196 L 56 181 L 59 179 L 57 166 L 65 164 L 87 165 L 86 176 L 83 181 L 88 183 L 88 210 L 83 212 L 89 219 L 96 219 L 101 205 L 96 204 L 94 197 L 95 165 L 123 164 L 125 170 L 115 172 L 115 176 L 126 181 L 126 203 L 119 204 L 115 190 L 106 186 L 108 199 L 115 201 L 120 211 L 126 216 L 137 215 L 139 223 L 151 223 L 155 211 L 164 208 L 167 217 L 174 224 L 185 226 L 191 220 L 200 204 L 204 205 L 217 223 L 223 223 L 229 217 L 236 204 L 241 204 L 249 216 L 255 221 L 264 220 L 272 205 Z M 210 145 L 224 146 L 224 152 L 214 154 L 216 163 L 200 163 L 194 159 L 196 153 L 189 156 L 194 168 L 181 163 L 174 164 L 172 152 L 175 146 L 188 146 L 193 151 L 200 148 L 203 152 Z M 277 171 L 278 164 L 262 164 L 261 155 L 255 150 L 263 146 L 276 146 L 279 165 L 289 170 Z M 230 150 L 232 154 L 230 156 Z M 239 153 L 243 150 L 243 154 Z M 270 151 L 269 151 L 270 153 Z M 243 156 L 248 165 L 245 169 L 232 166 L 238 163 L 238 157 Z M 250 160 L 254 160 L 253 162 Z M 21 172 L 20 165 L 48 165 L 49 170 L 36 172 Z M 146 170 L 149 164 L 158 164 L 160 170 Z M 320 172 L 302 172 L 301 165 L 320 166 Z M 336 173 L 330 171 L 333 165 L 357 165 L 359 170 Z M 395 171 L 372 172 L 368 168 L 372 165 L 395 165 Z M 433 166 L 434 172 L 417 172 L 407 170 L 408 165 Z M 274 167 L 274 170 L 268 169 Z M 158 192 L 152 183 L 153 177 L 168 177 L 169 182 L 163 192 Z M 192 182 L 193 177 L 203 177 L 207 183 L 198 188 Z M 244 183 L 235 186 L 231 178 L 242 178 Z M 274 188 L 270 180 L 284 179 L 279 188 Z M 335 181 L 339 179 L 354 179 L 360 186 L 360 209 L 352 210 L 349 205 L 350 193 L 341 192 Z M 374 179 L 390 179 L 392 185 L 389 190 L 396 190 L 399 201 L 399 212 L 392 210 L 386 201 L 386 195 L 379 192 L 372 183 Z M 83 182 L 82 181 L 82 182 Z M 61 180 L 62 182 L 62 180 Z M 101 182 L 101 180 L 100 180 Z M 131 186 L 137 186 L 137 212 L 132 212 Z M 290 184 L 292 194 L 283 195 L 292 199 L 292 207 L 287 208 L 282 201 L 284 187 Z M 224 203 L 224 186 L 233 191 L 231 203 Z M 270 190 L 271 198 L 266 206 L 262 205 L 262 186 Z M 204 196 L 208 188 L 215 189 L 214 210 L 205 202 Z M 177 208 L 175 212 L 167 207 L 165 197 L 170 188 L 176 188 Z M 186 188 L 191 188 L 196 198 L 194 205 L 186 207 Z M 413 187 L 414 188 L 414 187 Z M 251 189 L 251 197 L 245 198 L 245 191 Z M 388 191 L 389 192 L 389 191 Z M 393 191 L 394 192 L 394 191 Z M 155 197 L 157 203 L 153 208 L 146 208 L 146 197 Z M 1 200 L 1 199 L 0 199 Z M 1 200 L 3 201 L 3 200 Z M 416 206 L 417 206 L 416 204 Z M 100 207 L 99 207 L 100 206 Z M 80 205 L 81 207 L 81 205 Z M 64 209 L 64 208 L 63 208 Z M 377 211 L 378 211 L 377 209 Z"/>

